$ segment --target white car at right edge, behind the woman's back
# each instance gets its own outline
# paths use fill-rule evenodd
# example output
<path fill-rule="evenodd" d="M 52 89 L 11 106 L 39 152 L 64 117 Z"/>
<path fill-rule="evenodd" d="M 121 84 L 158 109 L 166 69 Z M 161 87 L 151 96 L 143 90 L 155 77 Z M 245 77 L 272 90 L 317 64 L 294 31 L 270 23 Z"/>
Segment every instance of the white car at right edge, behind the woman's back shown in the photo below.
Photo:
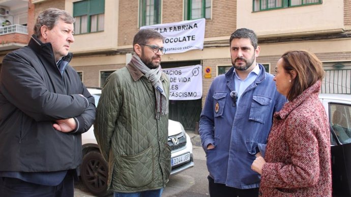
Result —
<path fill-rule="evenodd" d="M 351 196 L 351 95 L 319 94 L 331 126 L 333 196 Z"/>

